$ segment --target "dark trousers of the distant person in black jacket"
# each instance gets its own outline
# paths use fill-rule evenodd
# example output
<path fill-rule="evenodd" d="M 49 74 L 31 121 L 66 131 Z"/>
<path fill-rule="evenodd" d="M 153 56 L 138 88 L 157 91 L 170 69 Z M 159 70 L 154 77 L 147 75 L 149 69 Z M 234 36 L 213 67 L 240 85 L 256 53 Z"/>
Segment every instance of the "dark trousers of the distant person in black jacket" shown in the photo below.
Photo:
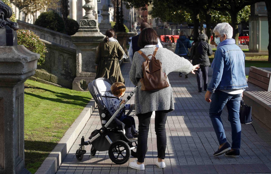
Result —
<path fill-rule="evenodd" d="M 195 71 L 197 74 L 197 82 L 198 82 L 198 90 L 202 90 L 202 86 L 201 86 L 201 78 L 203 76 L 203 87 L 204 90 L 207 90 L 207 85 L 208 85 L 208 69 L 209 66 L 203 66 L 200 65 L 200 68 L 198 69 L 198 71 Z"/>

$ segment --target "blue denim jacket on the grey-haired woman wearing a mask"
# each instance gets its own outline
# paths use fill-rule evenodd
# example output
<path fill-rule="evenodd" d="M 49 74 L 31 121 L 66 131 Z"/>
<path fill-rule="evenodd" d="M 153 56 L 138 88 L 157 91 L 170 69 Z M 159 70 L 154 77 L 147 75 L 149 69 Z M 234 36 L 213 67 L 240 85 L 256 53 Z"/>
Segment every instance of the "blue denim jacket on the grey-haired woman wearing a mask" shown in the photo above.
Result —
<path fill-rule="evenodd" d="M 207 90 L 244 89 L 248 87 L 245 76 L 245 54 L 234 39 L 218 44 L 212 66 L 213 75 Z"/>

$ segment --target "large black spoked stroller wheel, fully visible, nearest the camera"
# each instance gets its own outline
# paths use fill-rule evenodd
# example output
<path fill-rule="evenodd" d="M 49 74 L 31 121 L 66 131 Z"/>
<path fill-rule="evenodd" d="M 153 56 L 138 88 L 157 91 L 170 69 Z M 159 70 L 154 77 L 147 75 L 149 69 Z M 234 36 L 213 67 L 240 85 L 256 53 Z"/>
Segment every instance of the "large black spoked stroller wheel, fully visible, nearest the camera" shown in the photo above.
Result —
<path fill-rule="evenodd" d="M 117 140 L 110 145 L 108 155 L 114 163 L 124 164 L 129 160 L 131 150 L 126 142 Z"/>

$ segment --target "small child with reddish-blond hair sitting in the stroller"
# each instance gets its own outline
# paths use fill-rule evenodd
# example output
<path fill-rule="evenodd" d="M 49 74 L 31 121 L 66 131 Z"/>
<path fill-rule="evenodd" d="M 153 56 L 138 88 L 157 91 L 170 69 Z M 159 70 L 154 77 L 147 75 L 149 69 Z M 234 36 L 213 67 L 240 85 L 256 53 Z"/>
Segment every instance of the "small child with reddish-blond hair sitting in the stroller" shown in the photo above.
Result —
<path fill-rule="evenodd" d="M 121 97 L 125 94 L 126 87 L 122 82 L 116 82 L 111 86 L 112 98 L 109 99 L 109 109 L 112 113 L 115 113 L 121 104 L 125 103 Z M 134 104 L 126 104 L 124 106 L 125 110 L 130 110 Z M 123 109 L 117 114 L 116 118 L 125 124 L 125 136 L 128 139 L 137 139 L 138 131 L 136 130 L 135 119 L 129 115 L 125 115 L 125 110 Z"/>

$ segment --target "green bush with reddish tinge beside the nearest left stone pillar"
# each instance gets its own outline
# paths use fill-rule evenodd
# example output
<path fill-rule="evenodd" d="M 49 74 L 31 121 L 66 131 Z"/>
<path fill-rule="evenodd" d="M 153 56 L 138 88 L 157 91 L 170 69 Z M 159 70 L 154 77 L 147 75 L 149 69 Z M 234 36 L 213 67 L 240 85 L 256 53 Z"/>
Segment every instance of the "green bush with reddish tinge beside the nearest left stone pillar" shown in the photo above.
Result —
<path fill-rule="evenodd" d="M 39 40 L 39 36 L 30 30 L 17 30 L 18 45 L 24 45 L 28 50 L 40 54 L 38 65 L 45 61 L 45 53 L 47 53 L 45 44 Z"/>

